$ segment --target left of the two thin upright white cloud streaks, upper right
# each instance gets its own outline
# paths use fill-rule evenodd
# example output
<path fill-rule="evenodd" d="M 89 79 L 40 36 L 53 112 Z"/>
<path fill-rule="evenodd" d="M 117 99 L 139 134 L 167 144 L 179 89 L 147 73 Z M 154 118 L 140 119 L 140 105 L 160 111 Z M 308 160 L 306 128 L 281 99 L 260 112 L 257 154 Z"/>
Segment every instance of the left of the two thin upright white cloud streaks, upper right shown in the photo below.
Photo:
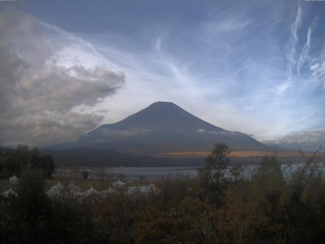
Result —
<path fill-rule="evenodd" d="M 293 78 L 293 68 L 296 65 L 296 45 L 299 41 L 298 29 L 302 23 L 302 8 L 299 5 L 295 21 L 291 24 L 291 35 L 286 43 L 286 59 L 287 59 L 287 75 L 288 80 L 291 81 Z"/>

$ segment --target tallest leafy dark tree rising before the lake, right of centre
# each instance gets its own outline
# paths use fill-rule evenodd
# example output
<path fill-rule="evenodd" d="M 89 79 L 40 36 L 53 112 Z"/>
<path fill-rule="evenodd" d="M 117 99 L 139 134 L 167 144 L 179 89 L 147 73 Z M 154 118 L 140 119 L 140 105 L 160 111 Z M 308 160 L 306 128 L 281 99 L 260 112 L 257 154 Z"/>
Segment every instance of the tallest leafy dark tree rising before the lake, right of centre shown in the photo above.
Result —
<path fill-rule="evenodd" d="M 205 158 L 204 167 L 198 169 L 202 185 L 206 190 L 206 202 L 213 197 L 215 203 L 221 203 L 221 181 L 224 179 L 224 170 L 230 163 L 228 157 L 230 153 L 227 144 L 218 142 L 214 145 L 211 154 Z"/>

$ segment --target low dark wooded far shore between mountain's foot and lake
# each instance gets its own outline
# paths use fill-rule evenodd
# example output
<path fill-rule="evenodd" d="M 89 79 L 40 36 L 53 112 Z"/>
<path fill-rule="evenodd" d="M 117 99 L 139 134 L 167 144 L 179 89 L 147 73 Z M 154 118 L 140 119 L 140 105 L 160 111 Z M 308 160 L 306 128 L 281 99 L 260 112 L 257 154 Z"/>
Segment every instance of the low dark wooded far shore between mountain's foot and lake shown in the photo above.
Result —
<path fill-rule="evenodd" d="M 0 153 L 12 151 L 14 149 L 0 147 Z M 177 158 L 177 157 L 156 157 L 146 155 L 122 154 L 116 151 L 76 147 L 70 149 L 40 149 L 40 154 L 51 155 L 56 167 L 178 167 L 178 166 L 196 166 L 201 167 L 204 164 L 204 158 Z M 244 165 L 256 165 L 262 157 L 231 157 L 231 164 L 241 163 Z M 303 157 L 278 157 L 281 163 L 287 163 L 289 160 L 302 162 Z"/>

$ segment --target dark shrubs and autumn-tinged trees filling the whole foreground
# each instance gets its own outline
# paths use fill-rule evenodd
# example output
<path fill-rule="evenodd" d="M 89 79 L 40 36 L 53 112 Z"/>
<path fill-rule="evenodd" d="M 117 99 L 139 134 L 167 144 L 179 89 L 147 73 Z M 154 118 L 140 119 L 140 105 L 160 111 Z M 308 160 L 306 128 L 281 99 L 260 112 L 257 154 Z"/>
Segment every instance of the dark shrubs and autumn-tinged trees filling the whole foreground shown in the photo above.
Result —
<path fill-rule="evenodd" d="M 320 148 L 319 148 L 320 149 Z M 265 156 L 244 177 L 216 144 L 196 179 L 161 179 L 157 192 L 50 198 L 42 170 L 27 164 L 17 196 L 1 196 L 0 233 L 15 219 L 20 243 L 323 243 L 325 178 L 315 154 L 297 170 Z M 13 237 L 7 228 L 7 238 Z M 4 236 L 1 236 L 4 238 Z"/>

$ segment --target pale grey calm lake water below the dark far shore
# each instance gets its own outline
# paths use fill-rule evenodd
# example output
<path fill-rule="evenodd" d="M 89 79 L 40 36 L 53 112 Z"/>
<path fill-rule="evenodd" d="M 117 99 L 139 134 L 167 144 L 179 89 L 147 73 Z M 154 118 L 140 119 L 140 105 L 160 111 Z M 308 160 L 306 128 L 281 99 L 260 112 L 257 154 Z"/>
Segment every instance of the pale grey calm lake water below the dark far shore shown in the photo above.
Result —
<path fill-rule="evenodd" d="M 296 171 L 298 166 L 303 164 L 293 164 L 292 170 Z M 287 165 L 282 165 L 282 170 L 287 171 Z M 247 166 L 244 170 L 244 175 L 249 177 L 256 165 Z M 82 168 L 79 170 L 73 169 L 57 169 L 54 176 L 74 176 L 80 177 L 81 171 L 86 170 L 89 172 L 90 179 L 103 178 L 106 179 L 108 174 L 112 172 L 114 178 L 128 179 L 128 180 L 155 180 L 163 177 L 189 177 L 194 178 L 197 176 L 198 167 L 112 167 L 112 168 Z M 325 166 L 319 165 L 319 169 L 325 173 Z"/>

